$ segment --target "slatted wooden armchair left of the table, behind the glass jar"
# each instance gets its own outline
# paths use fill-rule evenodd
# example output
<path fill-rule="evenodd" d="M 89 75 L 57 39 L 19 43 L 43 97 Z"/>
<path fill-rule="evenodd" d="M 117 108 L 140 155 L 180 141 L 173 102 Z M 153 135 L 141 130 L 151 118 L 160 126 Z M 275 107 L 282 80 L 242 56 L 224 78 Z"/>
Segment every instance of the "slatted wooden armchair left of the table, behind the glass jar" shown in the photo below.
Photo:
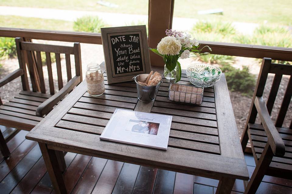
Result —
<path fill-rule="evenodd" d="M 1 79 L 0 87 L 20 76 L 23 91 L 5 104 L 3 104 L 0 99 L 0 123 L 1 125 L 8 127 L 30 131 L 43 119 L 44 115 L 47 115 L 53 109 L 54 105 L 56 105 L 62 98 L 64 98 L 65 95 L 67 95 L 82 81 L 80 44 L 74 43 L 74 46 L 70 47 L 23 42 L 21 38 L 16 38 L 15 41 L 19 69 Z M 46 53 L 50 93 L 46 93 L 40 52 Z M 59 91 L 56 93 L 54 89 L 52 64 L 50 58 L 51 52 L 55 53 L 57 64 L 56 68 Z M 67 84 L 64 86 L 61 73 L 60 53 L 64 53 L 66 59 Z M 73 78 L 71 76 L 70 55 L 75 56 L 76 75 Z M 34 56 L 36 56 L 36 63 L 33 62 Z M 25 61 L 30 74 L 32 91 L 30 90 L 28 82 Z M 40 92 L 37 92 L 38 88 Z M 0 149 L 4 157 L 9 156 L 10 152 L 1 132 Z"/>

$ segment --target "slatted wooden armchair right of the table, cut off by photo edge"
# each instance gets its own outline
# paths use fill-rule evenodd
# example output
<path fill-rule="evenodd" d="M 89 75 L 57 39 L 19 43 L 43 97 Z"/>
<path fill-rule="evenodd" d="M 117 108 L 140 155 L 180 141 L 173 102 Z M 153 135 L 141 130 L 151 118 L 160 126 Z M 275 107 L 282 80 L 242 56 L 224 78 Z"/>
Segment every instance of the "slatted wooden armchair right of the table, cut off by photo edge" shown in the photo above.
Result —
<path fill-rule="evenodd" d="M 268 73 L 275 74 L 267 102 L 262 95 Z M 277 96 L 283 75 L 290 79 L 283 96 L 275 124 L 270 114 Z M 255 193 L 264 175 L 292 179 L 292 122 L 284 128 L 283 122 L 292 96 L 292 65 L 272 63 L 272 59 L 264 58 L 260 69 L 252 106 L 242 134 L 242 149 L 245 150 L 250 140 L 256 167 L 245 189 L 245 193 Z M 259 115 L 260 124 L 255 124 Z"/>

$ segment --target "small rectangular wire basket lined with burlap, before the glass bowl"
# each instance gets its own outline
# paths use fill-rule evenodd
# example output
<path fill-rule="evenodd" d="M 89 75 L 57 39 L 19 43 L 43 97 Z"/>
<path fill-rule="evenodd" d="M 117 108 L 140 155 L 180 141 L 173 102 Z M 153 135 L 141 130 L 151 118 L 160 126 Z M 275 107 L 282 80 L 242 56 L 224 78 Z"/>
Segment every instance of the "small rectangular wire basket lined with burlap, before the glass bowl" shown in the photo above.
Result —
<path fill-rule="evenodd" d="M 175 102 L 202 104 L 204 88 L 170 83 L 167 99 Z"/>

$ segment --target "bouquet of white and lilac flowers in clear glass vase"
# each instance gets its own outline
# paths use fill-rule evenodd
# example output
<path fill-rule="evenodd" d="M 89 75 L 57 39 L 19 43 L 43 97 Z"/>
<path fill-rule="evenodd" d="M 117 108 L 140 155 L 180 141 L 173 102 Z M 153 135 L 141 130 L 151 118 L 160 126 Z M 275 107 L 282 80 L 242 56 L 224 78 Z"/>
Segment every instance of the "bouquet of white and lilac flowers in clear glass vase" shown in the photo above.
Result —
<path fill-rule="evenodd" d="M 162 38 L 157 45 L 157 49 L 151 49 L 152 52 L 163 58 L 165 62 L 164 76 L 166 79 L 175 79 L 178 82 L 182 75 L 182 70 L 178 59 L 186 59 L 189 57 L 198 57 L 208 55 L 209 52 L 201 53 L 201 51 L 209 46 L 199 49 L 200 44 L 196 38 L 190 39 L 191 35 L 175 30 L 166 30 L 166 37 Z M 192 54 L 190 54 L 192 53 Z"/>

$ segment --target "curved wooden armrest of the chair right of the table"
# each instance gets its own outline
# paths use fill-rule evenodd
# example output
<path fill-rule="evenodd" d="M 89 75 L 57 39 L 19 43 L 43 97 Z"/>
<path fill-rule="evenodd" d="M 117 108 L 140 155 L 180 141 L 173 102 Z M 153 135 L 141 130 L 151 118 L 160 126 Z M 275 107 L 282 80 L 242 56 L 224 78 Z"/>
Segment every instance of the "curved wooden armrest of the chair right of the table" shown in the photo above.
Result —
<path fill-rule="evenodd" d="M 262 97 L 255 97 L 255 108 L 258 111 L 259 118 L 261 119 L 262 126 L 268 137 L 268 143 L 271 146 L 275 155 L 285 155 L 285 145 L 277 131 L 266 107 L 265 100 Z"/>

